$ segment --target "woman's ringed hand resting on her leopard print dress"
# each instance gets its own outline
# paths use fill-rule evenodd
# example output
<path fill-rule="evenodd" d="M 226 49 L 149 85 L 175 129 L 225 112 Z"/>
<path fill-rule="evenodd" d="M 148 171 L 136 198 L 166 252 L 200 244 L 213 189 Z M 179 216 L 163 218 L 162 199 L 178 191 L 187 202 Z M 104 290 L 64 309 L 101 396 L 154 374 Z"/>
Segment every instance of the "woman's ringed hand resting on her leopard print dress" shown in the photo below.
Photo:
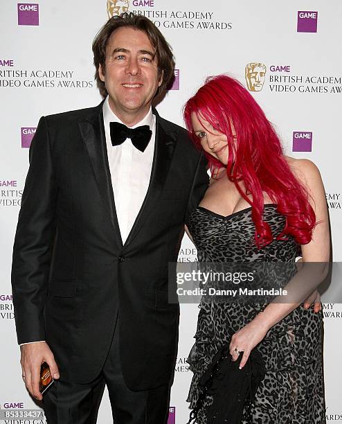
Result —
<path fill-rule="evenodd" d="M 253 319 L 253 321 L 233 335 L 231 344 L 229 345 L 229 352 L 231 353 L 233 361 L 237 360 L 240 352 L 244 352 L 239 366 L 240 369 L 246 364 L 252 349 L 264 339 L 265 335 L 267 335 L 268 330 L 269 328 L 267 328 L 267 326 Z"/>

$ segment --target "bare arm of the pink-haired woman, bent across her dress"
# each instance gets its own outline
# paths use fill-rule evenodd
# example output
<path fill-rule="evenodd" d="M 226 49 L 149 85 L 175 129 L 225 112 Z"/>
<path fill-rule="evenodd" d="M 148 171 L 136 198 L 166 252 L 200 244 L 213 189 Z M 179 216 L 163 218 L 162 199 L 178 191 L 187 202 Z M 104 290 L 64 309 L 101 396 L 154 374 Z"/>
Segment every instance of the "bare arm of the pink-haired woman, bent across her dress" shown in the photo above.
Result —
<path fill-rule="evenodd" d="M 325 200 L 325 190 L 318 168 L 307 159 L 298 159 L 293 161 L 293 172 L 298 180 L 307 188 L 314 212 L 316 214 L 316 227 L 312 233 L 312 240 L 307 245 L 302 246 L 303 263 L 322 263 L 320 267 L 322 274 L 317 275 L 317 279 L 323 280 L 330 259 L 330 235 L 327 215 L 327 204 Z M 300 272 L 298 272 L 298 279 Z M 296 277 L 295 277 L 296 278 Z M 303 281 L 303 280 L 302 280 Z M 260 312 L 255 319 L 237 331 L 231 339 L 230 351 L 233 360 L 237 360 L 238 351 L 244 351 L 240 362 L 242 368 L 251 353 L 251 350 L 262 341 L 268 330 L 285 318 L 294 309 L 298 308 L 299 302 L 294 303 L 270 303 L 263 312 Z M 235 353 L 234 353 L 235 351 Z"/>

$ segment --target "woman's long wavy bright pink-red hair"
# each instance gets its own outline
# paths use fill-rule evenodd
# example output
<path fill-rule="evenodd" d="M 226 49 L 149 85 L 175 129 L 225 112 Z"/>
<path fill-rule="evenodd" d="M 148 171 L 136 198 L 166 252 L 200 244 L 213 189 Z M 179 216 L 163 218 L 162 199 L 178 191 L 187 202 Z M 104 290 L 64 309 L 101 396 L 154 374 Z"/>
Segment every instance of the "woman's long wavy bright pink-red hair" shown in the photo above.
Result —
<path fill-rule="evenodd" d="M 271 228 L 263 220 L 264 196 L 269 195 L 285 216 L 286 224 L 277 239 L 291 235 L 305 245 L 312 239 L 316 216 L 305 188 L 291 172 L 283 156 L 280 140 L 253 96 L 234 78 L 226 75 L 208 77 L 206 83 L 184 107 L 184 120 L 192 140 L 201 143 L 193 132 L 191 114 L 208 121 L 228 140 L 228 178 L 252 207 L 255 244 L 264 247 L 273 240 Z M 233 141 L 235 130 L 236 142 Z M 222 163 L 206 153 L 213 175 Z M 243 182 L 247 197 L 239 182 Z"/>

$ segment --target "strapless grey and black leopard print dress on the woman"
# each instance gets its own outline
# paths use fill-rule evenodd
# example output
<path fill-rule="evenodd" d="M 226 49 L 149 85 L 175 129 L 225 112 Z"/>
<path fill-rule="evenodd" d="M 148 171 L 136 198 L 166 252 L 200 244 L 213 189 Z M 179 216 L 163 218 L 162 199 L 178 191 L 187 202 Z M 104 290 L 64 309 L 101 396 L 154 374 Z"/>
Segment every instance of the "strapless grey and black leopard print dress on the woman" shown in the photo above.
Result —
<path fill-rule="evenodd" d="M 275 204 L 264 206 L 264 220 L 273 235 L 281 233 L 285 218 Z M 224 217 L 198 206 L 190 214 L 189 230 L 198 251 L 199 262 L 295 261 L 299 246 L 293 238 L 274 239 L 267 247 L 254 244 L 255 227 L 251 208 Z M 195 344 L 188 363 L 194 373 L 188 402 L 195 407 L 199 380 L 229 335 L 246 325 L 260 311 L 255 305 L 213 303 L 201 300 Z M 253 424 L 325 423 L 322 362 L 323 315 L 296 308 L 273 326 L 258 345 L 265 362 L 266 376 L 253 406 Z M 204 407 L 212 402 L 208 397 Z M 204 408 L 197 423 L 208 424 Z M 245 423 L 245 421 L 243 421 Z"/>

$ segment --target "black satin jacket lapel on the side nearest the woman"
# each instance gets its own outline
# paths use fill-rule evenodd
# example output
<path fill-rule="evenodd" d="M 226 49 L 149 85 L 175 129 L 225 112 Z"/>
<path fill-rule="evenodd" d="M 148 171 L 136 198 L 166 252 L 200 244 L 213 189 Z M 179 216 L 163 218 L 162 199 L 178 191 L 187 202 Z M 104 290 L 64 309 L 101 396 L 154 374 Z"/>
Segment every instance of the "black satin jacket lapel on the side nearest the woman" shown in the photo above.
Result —
<path fill-rule="evenodd" d="M 125 241 L 125 247 L 136 237 L 138 232 L 141 230 L 141 227 L 143 227 L 148 215 L 150 215 L 151 211 L 154 209 L 154 204 L 159 199 L 166 176 L 168 175 L 168 170 L 170 168 L 174 152 L 175 139 L 172 139 L 169 134 L 166 134 L 161 125 L 159 114 L 155 109 L 153 109 L 153 113 L 156 115 L 156 139 L 150 184 L 141 209 L 134 221 L 131 231 L 129 232 L 127 240 Z"/>

